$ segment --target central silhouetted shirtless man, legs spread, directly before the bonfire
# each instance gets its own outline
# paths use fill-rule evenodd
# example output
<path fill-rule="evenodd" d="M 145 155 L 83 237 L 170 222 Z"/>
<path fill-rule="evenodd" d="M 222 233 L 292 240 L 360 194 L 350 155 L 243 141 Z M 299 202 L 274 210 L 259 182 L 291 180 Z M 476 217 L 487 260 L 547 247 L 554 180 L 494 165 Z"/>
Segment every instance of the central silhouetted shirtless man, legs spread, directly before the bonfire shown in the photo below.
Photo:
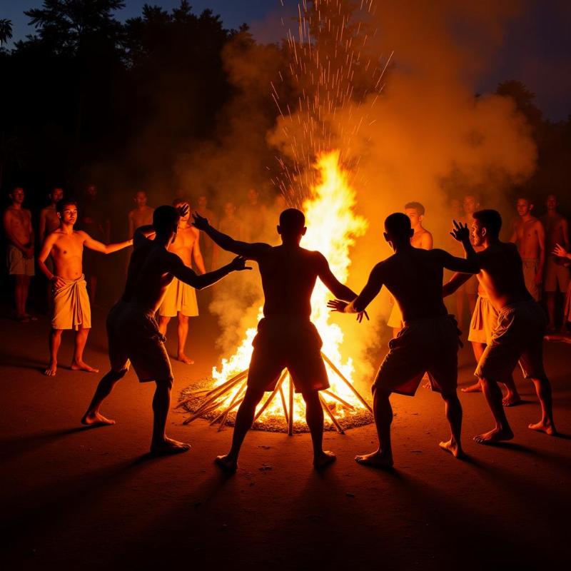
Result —
<path fill-rule="evenodd" d="M 265 303 L 258 335 L 253 340 L 253 353 L 248 370 L 248 388 L 236 414 L 230 452 L 216 458 L 228 472 L 238 468 L 238 455 L 246 433 L 254 420 L 256 406 L 265 391 L 276 387 L 284 368 L 288 368 L 295 390 L 303 395 L 306 420 L 313 443 L 313 465 L 325 468 L 335 455 L 323 450 L 323 408 L 319 391 L 328 388 L 325 363 L 321 357 L 321 338 L 310 321 L 311 293 L 317 278 L 344 300 L 356 294 L 340 283 L 320 252 L 305 250 L 300 241 L 307 228 L 303 212 L 288 208 L 280 215 L 280 246 L 233 240 L 208 224 L 206 218 L 193 214 L 194 225 L 206 232 L 224 250 L 258 262 Z M 362 315 L 360 315 L 362 318 Z"/>

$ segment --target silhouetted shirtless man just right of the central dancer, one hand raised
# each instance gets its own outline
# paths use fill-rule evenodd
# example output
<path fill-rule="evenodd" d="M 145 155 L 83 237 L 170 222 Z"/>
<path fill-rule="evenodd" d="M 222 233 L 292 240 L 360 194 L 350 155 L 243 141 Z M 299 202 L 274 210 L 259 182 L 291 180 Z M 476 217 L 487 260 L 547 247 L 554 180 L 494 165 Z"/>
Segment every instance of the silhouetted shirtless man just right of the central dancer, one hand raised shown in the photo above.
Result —
<path fill-rule="evenodd" d="M 428 373 L 433 390 L 442 395 L 450 424 L 450 440 L 441 442 L 440 448 L 455 458 L 463 458 L 460 433 L 462 406 L 456 387 L 458 383 L 458 326 L 443 302 L 442 281 L 444 268 L 477 273 L 475 252 L 470 244 L 468 228 L 455 222 L 453 237 L 462 242 L 467 259 L 455 258 L 448 252 L 424 251 L 410 243 L 413 229 L 410 218 L 394 213 L 385 220 L 385 240 L 395 251 L 371 271 L 363 291 L 352 303 L 331 300 L 328 307 L 342 313 L 365 310 L 386 285 L 395 296 L 403 312 L 405 327 L 397 338 L 390 340 L 389 352 L 373 383 L 373 413 L 379 447 L 373 453 L 359 455 L 359 464 L 373 468 L 392 468 L 393 452 L 390 442 L 390 424 L 393 409 L 390 393 L 414 396 L 420 380 Z"/>

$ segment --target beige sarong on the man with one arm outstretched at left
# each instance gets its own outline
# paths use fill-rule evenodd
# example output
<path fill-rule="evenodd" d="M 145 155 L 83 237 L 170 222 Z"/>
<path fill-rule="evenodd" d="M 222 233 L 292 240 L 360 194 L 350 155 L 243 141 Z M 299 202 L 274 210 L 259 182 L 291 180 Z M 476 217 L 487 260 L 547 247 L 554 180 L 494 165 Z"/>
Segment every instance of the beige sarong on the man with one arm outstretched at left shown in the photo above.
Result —
<path fill-rule="evenodd" d="M 91 306 L 85 276 L 81 274 L 81 278 L 64 282 L 66 285 L 63 288 L 54 289 L 51 327 L 75 330 L 91 328 Z"/>

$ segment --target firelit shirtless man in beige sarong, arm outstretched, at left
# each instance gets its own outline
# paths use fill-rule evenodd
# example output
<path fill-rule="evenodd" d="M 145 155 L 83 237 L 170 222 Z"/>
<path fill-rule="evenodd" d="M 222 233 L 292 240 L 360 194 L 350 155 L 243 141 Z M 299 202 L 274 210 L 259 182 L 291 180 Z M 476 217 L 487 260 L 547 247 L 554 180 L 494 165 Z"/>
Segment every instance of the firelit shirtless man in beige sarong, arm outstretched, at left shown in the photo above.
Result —
<path fill-rule="evenodd" d="M 54 286 L 49 334 L 50 360 L 45 374 L 50 377 L 56 374 L 61 333 L 64 329 L 76 331 L 71 369 L 98 373 L 98 369 L 84 361 L 84 348 L 91 329 L 91 307 L 83 271 L 84 248 L 110 254 L 130 246 L 133 241 L 106 245 L 84 231 L 74 230 L 77 221 L 76 201 L 62 199 L 57 205 L 57 211 L 60 226 L 44 240 L 38 256 L 39 268 Z M 54 272 L 46 266 L 48 256 L 51 256 L 54 263 Z"/>

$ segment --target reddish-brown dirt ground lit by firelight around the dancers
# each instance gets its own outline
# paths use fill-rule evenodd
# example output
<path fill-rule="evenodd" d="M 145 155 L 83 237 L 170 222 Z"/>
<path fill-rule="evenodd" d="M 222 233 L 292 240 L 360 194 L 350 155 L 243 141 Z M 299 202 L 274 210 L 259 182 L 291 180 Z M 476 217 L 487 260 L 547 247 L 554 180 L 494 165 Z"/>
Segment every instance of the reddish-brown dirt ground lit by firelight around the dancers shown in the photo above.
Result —
<path fill-rule="evenodd" d="M 86 350 L 102 371 L 104 314 L 96 312 Z M 393 397 L 394 473 L 353 461 L 375 446 L 369 425 L 326 433 L 338 461 L 324 473 L 312 469 L 309 435 L 252 432 L 238 473 L 227 477 L 213 458 L 226 452 L 231 429 L 218 432 L 203 420 L 184 426 L 173 413 L 170 435 L 192 450 L 146 455 L 153 385 L 134 373 L 103 410 L 117 424 L 81 427 L 100 375 L 65 366 L 55 378 L 42 375 L 48 327 L 46 318 L 0 319 L 5 570 L 568 568 L 571 345 L 546 345 L 559 438 L 527 429 L 539 408 L 517 373 L 525 404 L 509 410 L 511 443 L 475 444 L 471 437 L 491 428 L 490 413 L 482 395 L 460 395 L 469 460 L 438 448 L 448 438 L 443 403 L 420 388 L 415 398 Z M 218 357 L 216 328 L 202 317 L 192 327 L 196 365 L 173 362 L 174 400 Z M 61 365 L 71 360 L 71 335 L 64 337 Z M 465 348 L 460 385 L 471 383 L 472 371 Z"/>

